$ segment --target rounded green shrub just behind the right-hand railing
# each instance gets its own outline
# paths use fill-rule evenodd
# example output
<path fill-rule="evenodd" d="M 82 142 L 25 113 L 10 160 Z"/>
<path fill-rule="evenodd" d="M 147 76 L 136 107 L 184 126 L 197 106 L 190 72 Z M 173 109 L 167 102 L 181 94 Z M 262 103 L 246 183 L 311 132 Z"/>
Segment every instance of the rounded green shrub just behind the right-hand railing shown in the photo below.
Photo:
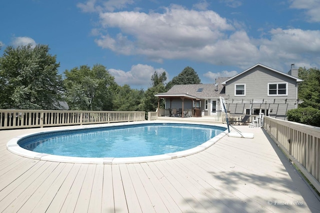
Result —
<path fill-rule="evenodd" d="M 312 107 L 288 110 L 286 116 L 288 121 L 320 127 L 320 110 Z"/>

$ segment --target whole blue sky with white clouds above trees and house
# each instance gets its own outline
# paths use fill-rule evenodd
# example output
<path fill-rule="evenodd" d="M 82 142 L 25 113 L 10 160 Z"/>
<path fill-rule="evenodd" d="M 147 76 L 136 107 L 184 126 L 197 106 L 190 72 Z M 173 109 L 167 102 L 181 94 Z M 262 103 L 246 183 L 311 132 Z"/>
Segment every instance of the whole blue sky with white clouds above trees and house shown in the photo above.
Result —
<path fill-rule="evenodd" d="M 6 46 L 47 44 L 59 73 L 102 64 L 119 85 L 148 88 L 192 67 L 214 83 L 256 63 L 320 68 L 319 0 L 13 0 L 1 2 Z"/>

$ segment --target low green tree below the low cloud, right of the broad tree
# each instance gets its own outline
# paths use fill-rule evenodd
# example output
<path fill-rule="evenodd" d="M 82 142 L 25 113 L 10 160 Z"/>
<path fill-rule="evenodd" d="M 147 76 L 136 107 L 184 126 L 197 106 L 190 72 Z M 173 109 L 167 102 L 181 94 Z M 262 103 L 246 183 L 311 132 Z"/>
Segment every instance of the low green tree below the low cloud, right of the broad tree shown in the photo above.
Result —
<path fill-rule="evenodd" d="M 131 89 L 129 85 L 118 86 L 114 92 L 113 110 L 140 111 L 143 89 Z"/>

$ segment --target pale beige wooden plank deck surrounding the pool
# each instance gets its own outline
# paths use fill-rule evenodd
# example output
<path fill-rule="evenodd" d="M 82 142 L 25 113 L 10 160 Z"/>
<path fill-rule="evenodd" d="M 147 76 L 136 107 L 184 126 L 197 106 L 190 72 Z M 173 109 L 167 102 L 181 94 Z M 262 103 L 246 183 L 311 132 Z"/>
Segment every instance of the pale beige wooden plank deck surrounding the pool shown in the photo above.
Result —
<path fill-rule="evenodd" d="M 0 212 L 320 212 L 319 197 L 263 129 L 237 129 L 254 139 L 225 136 L 191 156 L 120 165 L 20 157 L 7 141 L 41 129 L 0 131 Z"/>

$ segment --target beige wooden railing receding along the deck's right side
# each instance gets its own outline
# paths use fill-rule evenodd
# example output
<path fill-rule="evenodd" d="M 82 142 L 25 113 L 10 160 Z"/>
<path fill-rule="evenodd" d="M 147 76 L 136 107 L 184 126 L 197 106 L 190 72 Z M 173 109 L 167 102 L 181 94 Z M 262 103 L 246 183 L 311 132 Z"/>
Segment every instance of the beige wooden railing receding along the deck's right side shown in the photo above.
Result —
<path fill-rule="evenodd" d="M 267 116 L 263 128 L 320 192 L 320 128 Z"/>

